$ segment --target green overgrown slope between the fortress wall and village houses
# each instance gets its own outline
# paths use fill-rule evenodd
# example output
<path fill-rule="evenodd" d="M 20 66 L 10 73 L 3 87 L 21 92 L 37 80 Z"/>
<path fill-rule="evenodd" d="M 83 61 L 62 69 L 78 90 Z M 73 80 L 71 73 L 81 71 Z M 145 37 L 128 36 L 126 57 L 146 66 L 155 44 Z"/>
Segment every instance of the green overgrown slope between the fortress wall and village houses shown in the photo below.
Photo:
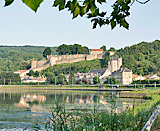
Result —
<path fill-rule="evenodd" d="M 75 81 L 74 73 L 89 72 L 90 69 L 101 69 L 101 60 L 95 59 L 91 61 L 80 61 L 75 63 L 58 64 L 41 71 L 41 74 L 47 77 L 47 81 L 51 84 L 55 83 L 55 77 L 58 80 L 59 77 L 65 74 L 70 74 L 70 81 Z M 74 80 L 72 80 L 74 79 Z M 56 81 L 57 83 L 57 81 Z M 85 82 L 84 82 L 85 83 Z M 61 82 L 59 84 L 62 84 Z"/>

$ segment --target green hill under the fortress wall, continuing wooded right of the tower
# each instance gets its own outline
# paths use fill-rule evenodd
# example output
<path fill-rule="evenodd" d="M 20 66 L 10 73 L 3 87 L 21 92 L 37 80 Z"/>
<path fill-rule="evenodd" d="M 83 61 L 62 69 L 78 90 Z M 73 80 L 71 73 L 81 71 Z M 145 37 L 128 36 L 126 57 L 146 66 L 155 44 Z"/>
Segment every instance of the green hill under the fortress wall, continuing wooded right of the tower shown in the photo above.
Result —
<path fill-rule="evenodd" d="M 160 71 L 160 41 L 141 42 L 131 47 L 121 48 L 116 51 L 119 57 L 123 58 L 122 67 L 131 69 L 134 74 L 148 75 Z M 51 72 L 54 76 L 60 74 L 73 74 L 77 72 L 88 72 L 89 69 L 101 69 L 108 67 L 109 53 L 106 53 L 105 59 L 95 59 L 92 61 L 80 61 L 70 64 L 59 64 L 49 67 L 42 71 L 45 75 Z"/>

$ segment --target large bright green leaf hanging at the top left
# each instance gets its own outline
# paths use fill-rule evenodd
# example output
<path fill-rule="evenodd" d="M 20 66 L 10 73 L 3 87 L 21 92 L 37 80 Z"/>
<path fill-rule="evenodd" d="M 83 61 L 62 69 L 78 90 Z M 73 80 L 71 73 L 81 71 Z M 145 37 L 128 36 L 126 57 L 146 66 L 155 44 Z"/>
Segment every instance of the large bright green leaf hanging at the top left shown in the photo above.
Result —
<path fill-rule="evenodd" d="M 22 0 L 22 1 L 35 12 L 37 11 L 39 5 L 43 2 L 43 0 Z"/>

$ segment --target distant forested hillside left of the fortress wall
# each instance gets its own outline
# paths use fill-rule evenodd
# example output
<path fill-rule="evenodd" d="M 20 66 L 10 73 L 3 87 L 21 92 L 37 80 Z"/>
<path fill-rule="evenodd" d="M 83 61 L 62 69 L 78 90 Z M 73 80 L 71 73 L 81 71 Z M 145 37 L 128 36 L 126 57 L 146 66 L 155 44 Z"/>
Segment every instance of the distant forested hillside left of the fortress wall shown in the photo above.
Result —
<path fill-rule="evenodd" d="M 26 70 L 30 68 L 30 60 L 43 59 L 43 46 L 0 46 L 0 72 Z M 55 47 L 51 47 L 55 54 Z"/>

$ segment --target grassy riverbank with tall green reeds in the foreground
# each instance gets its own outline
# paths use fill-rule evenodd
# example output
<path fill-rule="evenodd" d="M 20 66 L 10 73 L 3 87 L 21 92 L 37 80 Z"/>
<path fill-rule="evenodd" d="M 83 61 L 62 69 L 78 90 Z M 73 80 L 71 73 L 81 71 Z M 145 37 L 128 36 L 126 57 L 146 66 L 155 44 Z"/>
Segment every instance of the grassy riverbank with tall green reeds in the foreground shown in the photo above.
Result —
<path fill-rule="evenodd" d="M 135 93 L 127 92 L 128 94 Z M 70 115 L 66 115 L 65 106 L 57 105 L 52 112 L 52 119 L 47 123 L 49 129 L 60 130 L 141 130 L 145 123 L 148 121 L 152 113 L 160 104 L 160 93 L 156 91 L 136 91 L 139 95 L 148 97 L 148 101 L 141 104 L 141 106 L 135 106 L 126 108 L 125 110 L 117 113 L 113 108 L 111 112 L 103 111 L 99 112 L 94 109 L 92 112 L 73 112 Z M 66 117 L 63 117 L 66 116 Z M 61 118 L 60 120 L 57 118 Z M 152 126 L 152 129 L 159 130 L 159 118 L 156 119 Z M 65 121 L 65 122 L 64 122 Z M 63 123 L 63 124 L 62 124 Z M 69 123 L 69 124 L 68 124 Z M 54 125 L 54 126 L 53 126 Z"/>

